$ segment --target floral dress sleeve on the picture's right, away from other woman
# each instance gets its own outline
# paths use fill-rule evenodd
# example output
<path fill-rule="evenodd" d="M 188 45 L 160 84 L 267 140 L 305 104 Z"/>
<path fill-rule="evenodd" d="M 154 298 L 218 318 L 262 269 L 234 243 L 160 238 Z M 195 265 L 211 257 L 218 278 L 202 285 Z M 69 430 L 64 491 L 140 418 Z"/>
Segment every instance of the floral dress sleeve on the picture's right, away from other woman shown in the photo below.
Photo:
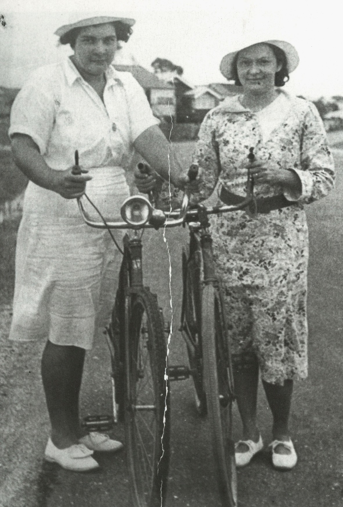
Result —
<path fill-rule="evenodd" d="M 308 110 L 300 132 L 300 167 L 292 169 L 301 180 L 302 192 L 298 200 L 305 204 L 325 197 L 334 186 L 334 162 L 328 147 L 326 132 L 319 113 L 313 104 Z M 286 198 L 292 200 L 292 196 Z"/>

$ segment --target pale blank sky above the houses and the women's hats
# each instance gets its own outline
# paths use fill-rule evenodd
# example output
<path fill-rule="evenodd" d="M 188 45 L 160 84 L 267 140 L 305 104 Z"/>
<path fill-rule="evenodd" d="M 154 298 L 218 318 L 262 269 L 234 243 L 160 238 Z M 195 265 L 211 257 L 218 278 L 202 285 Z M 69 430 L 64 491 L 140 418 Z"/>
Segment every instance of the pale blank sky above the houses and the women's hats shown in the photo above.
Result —
<path fill-rule="evenodd" d="M 144 67 L 168 58 L 190 83 L 225 82 L 221 58 L 253 42 L 286 40 L 299 52 L 287 89 L 309 98 L 343 95 L 343 7 L 333 0 L 0 0 L 0 85 L 20 87 L 30 70 L 59 60 L 53 31 L 74 11 L 136 19 L 126 49 Z M 102 10 L 102 11 L 100 11 Z M 85 16 L 88 17 L 88 16 Z"/>

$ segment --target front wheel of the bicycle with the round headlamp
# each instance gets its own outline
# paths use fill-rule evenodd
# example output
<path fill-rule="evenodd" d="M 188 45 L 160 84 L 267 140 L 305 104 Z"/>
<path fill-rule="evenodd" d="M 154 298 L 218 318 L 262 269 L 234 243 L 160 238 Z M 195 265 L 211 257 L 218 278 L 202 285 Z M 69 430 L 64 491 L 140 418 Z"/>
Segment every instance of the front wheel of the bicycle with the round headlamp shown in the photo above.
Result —
<path fill-rule="evenodd" d="M 170 433 L 163 319 L 157 298 L 147 288 L 126 298 L 125 311 L 125 434 L 131 496 L 135 507 L 161 507 L 167 487 Z M 142 406 L 155 408 L 139 409 Z"/>

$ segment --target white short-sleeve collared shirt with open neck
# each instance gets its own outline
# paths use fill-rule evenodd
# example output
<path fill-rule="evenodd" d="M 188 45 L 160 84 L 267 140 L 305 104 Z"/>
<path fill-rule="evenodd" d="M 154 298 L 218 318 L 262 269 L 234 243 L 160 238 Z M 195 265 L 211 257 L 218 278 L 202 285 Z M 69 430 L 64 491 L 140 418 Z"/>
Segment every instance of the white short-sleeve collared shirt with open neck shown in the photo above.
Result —
<path fill-rule="evenodd" d="M 158 124 L 141 86 L 128 72 L 106 71 L 104 102 L 70 58 L 32 73 L 11 111 L 9 135 L 29 135 L 52 169 L 129 164 L 133 141 Z"/>

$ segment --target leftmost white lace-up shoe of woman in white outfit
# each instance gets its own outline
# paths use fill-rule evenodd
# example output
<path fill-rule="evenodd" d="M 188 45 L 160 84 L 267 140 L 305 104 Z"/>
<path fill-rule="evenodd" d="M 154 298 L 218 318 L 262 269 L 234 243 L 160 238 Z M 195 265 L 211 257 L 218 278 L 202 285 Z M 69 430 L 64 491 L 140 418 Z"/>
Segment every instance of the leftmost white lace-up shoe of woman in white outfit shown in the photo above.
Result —
<path fill-rule="evenodd" d="M 92 458 L 92 454 L 93 451 L 87 449 L 83 444 L 74 444 L 66 449 L 58 449 L 49 438 L 44 457 L 46 461 L 58 463 L 66 470 L 89 472 L 89 470 L 99 468 L 99 464 Z"/>

